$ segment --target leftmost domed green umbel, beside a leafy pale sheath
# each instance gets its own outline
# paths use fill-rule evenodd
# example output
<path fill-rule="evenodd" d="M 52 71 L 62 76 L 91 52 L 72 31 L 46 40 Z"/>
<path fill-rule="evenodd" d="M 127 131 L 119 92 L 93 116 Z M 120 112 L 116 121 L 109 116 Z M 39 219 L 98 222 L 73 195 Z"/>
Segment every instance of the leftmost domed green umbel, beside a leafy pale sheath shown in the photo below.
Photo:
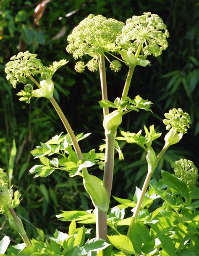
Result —
<path fill-rule="evenodd" d="M 10 58 L 10 61 L 5 65 L 6 78 L 16 88 L 17 82 L 26 84 L 26 77 L 34 76 L 39 73 L 39 70 L 44 68 L 40 59 L 37 59 L 37 54 L 31 54 L 29 51 L 20 52 Z"/>

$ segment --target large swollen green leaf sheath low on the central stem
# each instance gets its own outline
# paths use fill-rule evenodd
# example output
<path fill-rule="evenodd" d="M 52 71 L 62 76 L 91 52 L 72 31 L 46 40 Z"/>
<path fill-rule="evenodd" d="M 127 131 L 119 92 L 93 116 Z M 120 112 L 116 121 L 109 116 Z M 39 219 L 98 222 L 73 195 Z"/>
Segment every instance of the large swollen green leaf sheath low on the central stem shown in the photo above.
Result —
<path fill-rule="evenodd" d="M 108 210 L 109 200 L 102 181 L 94 175 L 84 173 L 83 183 L 95 208 L 102 212 Z"/>

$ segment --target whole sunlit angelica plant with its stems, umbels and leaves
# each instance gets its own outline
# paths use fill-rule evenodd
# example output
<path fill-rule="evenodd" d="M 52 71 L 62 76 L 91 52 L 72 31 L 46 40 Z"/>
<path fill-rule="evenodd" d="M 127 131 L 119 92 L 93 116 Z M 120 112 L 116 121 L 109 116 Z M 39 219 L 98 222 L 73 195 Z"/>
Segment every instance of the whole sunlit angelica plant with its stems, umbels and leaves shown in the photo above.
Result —
<path fill-rule="evenodd" d="M 53 62 L 52 65 L 46 67 L 40 59 L 37 59 L 36 54 L 26 51 L 13 56 L 6 65 L 5 72 L 7 73 L 7 79 L 10 80 L 13 87 L 16 88 L 17 83 L 25 84 L 24 90 L 21 90 L 17 94 L 20 96 L 19 100 L 25 101 L 26 103 L 29 103 L 33 97 L 45 97 L 50 100 L 68 132 L 67 135 L 63 135 L 62 133 L 55 135 L 52 139 L 46 143 L 41 143 L 40 146 L 37 146 L 37 148 L 31 151 L 31 154 L 35 158 L 38 158 L 41 163 L 34 165 L 29 172 L 35 175 L 34 178 L 44 178 L 55 171 L 67 172 L 69 177 L 81 176 L 84 188 L 89 194 L 94 206 L 94 210 L 62 211 L 57 216 L 60 220 L 72 222 L 68 234 L 57 234 L 55 232 L 55 238 L 52 238 L 52 240 L 55 239 L 53 241 L 56 241 L 56 243 L 63 247 L 62 251 L 60 247 L 58 248 L 56 255 L 96 255 L 92 254 L 92 251 L 97 251 L 97 255 L 99 256 L 118 255 L 114 251 L 102 251 L 110 246 L 110 244 L 105 242 L 107 241 L 107 237 L 110 243 L 120 250 L 120 255 L 125 255 L 126 253 L 134 255 L 156 255 L 159 251 L 162 253 L 160 255 L 175 255 L 175 250 L 171 245 L 173 242 L 170 243 L 171 234 L 174 233 L 170 231 L 165 238 L 164 234 L 158 230 L 158 224 L 160 223 L 160 226 L 163 225 L 162 223 L 165 223 L 165 219 L 162 220 L 161 216 L 158 215 L 159 213 L 154 213 L 154 216 L 158 216 L 158 220 L 153 219 L 153 213 L 149 214 L 144 207 L 149 207 L 154 199 L 161 197 L 165 201 L 164 205 L 162 205 L 161 213 L 165 213 L 166 216 L 170 216 L 171 214 L 173 214 L 172 216 L 177 216 L 177 213 L 175 215 L 173 212 L 164 212 L 167 210 L 165 209 L 166 207 L 174 207 L 175 210 L 177 209 L 176 211 L 180 209 L 181 200 L 175 196 L 176 191 L 187 199 L 187 202 L 191 202 L 193 199 L 190 196 L 189 187 L 187 188 L 187 186 L 194 186 L 197 178 L 197 170 L 193 163 L 188 160 L 181 159 L 172 165 L 175 175 L 178 178 L 162 171 L 163 181 L 160 184 L 156 184 L 154 181 L 150 182 L 162 156 L 170 146 L 178 143 L 187 132 L 187 129 L 190 128 L 191 119 L 189 114 L 184 113 L 181 108 L 174 108 L 169 110 L 168 113 L 165 113 L 163 123 L 166 125 L 168 133 L 165 135 L 165 145 L 159 154 L 153 148 L 153 141 L 157 140 L 162 135 L 162 132 L 157 132 L 154 125 L 151 125 L 149 128 L 144 126 L 144 135 L 140 130 L 137 133 L 122 131 L 121 136 L 117 136 L 118 127 L 122 124 L 123 115 L 131 111 L 152 111 L 152 102 L 150 100 L 144 100 L 140 95 L 136 95 L 134 99 L 131 99 L 128 97 L 128 92 L 135 67 L 139 65 L 146 68 L 151 63 L 148 59 L 150 55 L 154 57 L 160 56 L 162 51 L 168 47 L 168 36 L 168 30 L 162 19 L 158 15 L 151 14 L 150 12 L 143 13 L 141 16 L 133 16 L 126 21 L 126 24 L 116 19 L 107 19 L 102 15 L 94 16 L 90 14 L 68 35 L 66 51 L 69 54 L 73 54 L 75 60 L 79 59 L 74 69 L 78 73 L 83 73 L 86 67 L 92 72 L 99 70 L 102 90 L 102 100 L 99 101 L 99 105 L 103 109 L 102 125 L 105 132 L 105 145 L 100 146 L 100 150 L 103 151 L 105 149 L 105 153 L 98 153 L 94 149 L 86 153 L 81 152 L 79 140 L 86 138 L 89 134 L 83 135 L 81 133 L 76 136 L 74 135 L 68 120 L 53 97 L 54 83 L 52 76 L 58 68 L 67 64 L 68 61 L 66 59 Z M 110 69 L 114 72 L 119 72 L 122 64 L 129 67 L 122 95 L 116 97 L 114 102 L 108 100 L 105 61 L 107 61 Z M 28 79 L 30 83 L 35 84 L 38 88 L 35 89 L 33 84 L 27 84 Z M 113 111 L 110 109 L 113 109 Z M 145 152 L 148 168 L 142 189 L 136 188 L 134 202 L 127 199 L 115 198 L 120 205 L 113 207 L 109 212 L 115 149 L 119 153 L 120 160 L 123 159 L 118 140 L 125 140 L 127 143 L 136 143 L 141 147 Z M 97 176 L 91 175 L 89 170 L 87 170 L 94 165 L 104 171 L 103 181 Z M 189 176 L 191 176 L 190 180 L 188 178 Z M 184 181 L 187 182 L 186 185 L 184 185 Z M 162 185 L 163 183 L 164 185 Z M 147 191 L 148 186 L 150 188 Z M 165 186 L 168 186 L 168 188 L 162 191 L 162 188 L 165 188 Z M 182 187 L 183 191 L 179 189 L 180 187 Z M 6 196 L 5 200 L 2 199 L 2 205 L 12 202 L 9 196 L 10 190 L 8 188 L 6 190 L 6 188 L 7 186 L 5 184 L 2 185 L 2 195 Z M 173 189 L 175 190 L 174 192 Z M 170 199 L 169 193 L 172 194 L 175 200 L 173 198 Z M 133 207 L 133 216 L 124 219 L 125 208 L 129 206 Z M 189 207 L 188 203 L 187 207 Z M 9 207 L 8 209 L 10 211 Z M 144 221 L 140 218 L 142 214 L 145 214 Z M 147 218 L 151 222 L 147 222 Z M 176 220 L 180 218 L 181 216 L 178 215 Z M 86 229 L 84 227 L 76 229 L 74 221 L 85 224 L 95 223 L 97 240 L 87 241 L 83 245 L 82 241 L 84 240 Z M 120 234 L 118 230 L 117 225 L 123 225 L 123 223 L 129 226 L 127 235 Z M 156 223 L 158 223 L 157 228 L 152 226 L 149 233 L 147 225 L 150 226 Z M 107 226 L 110 226 L 116 232 L 116 235 L 108 236 Z M 174 221 L 172 229 L 175 229 Z M 24 239 L 23 236 L 22 238 Z M 169 254 L 170 251 L 166 251 L 167 254 L 164 254 L 166 250 L 165 240 L 169 240 L 168 244 L 171 245 L 173 250 L 171 254 Z M 89 243 L 91 244 L 91 249 L 88 245 Z M 37 251 L 37 254 L 52 254 L 53 246 L 51 244 L 50 246 L 37 245 L 33 240 L 32 245 L 31 253 Z M 26 248 L 24 253 L 28 252 L 30 253 L 29 249 Z"/>

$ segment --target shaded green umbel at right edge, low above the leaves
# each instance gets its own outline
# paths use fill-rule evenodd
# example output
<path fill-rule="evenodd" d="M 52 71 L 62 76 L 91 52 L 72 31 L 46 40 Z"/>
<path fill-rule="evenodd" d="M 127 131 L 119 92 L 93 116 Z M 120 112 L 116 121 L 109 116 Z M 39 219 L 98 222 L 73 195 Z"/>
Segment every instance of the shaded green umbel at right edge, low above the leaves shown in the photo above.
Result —
<path fill-rule="evenodd" d="M 175 176 L 187 185 L 196 184 L 198 178 L 198 169 L 191 160 L 180 159 L 171 164 Z"/>

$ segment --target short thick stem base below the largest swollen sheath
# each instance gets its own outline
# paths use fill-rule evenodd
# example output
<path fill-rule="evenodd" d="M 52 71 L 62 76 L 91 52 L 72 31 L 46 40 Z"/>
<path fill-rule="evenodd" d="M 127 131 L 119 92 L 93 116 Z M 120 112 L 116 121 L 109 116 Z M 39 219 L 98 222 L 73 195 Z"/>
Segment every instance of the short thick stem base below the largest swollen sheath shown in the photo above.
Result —
<path fill-rule="evenodd" d="M 96 209 L 96 237 L 107 240 L 107 213 Z"/>

